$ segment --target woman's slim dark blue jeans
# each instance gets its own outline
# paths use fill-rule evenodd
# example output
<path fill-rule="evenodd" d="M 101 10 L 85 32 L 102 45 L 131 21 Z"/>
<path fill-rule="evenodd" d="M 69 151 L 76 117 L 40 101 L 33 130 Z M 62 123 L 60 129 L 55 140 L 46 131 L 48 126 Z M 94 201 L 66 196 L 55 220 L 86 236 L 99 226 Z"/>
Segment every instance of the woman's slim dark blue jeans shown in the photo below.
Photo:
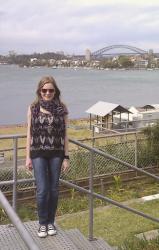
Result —
<path fill-rule="evenodd" d="M 58 203 L 58 187 L 61 173 L 62 158 L 32 159 L 36 182 L 36 198 L 39 224 L 54 223 Z"/>

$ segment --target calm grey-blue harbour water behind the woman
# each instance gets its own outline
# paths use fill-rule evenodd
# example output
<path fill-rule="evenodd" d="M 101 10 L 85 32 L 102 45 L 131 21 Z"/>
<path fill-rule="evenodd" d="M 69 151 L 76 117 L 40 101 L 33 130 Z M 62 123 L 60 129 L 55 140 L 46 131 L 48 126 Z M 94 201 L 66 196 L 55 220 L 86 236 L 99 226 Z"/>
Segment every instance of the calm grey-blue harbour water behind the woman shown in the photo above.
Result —
<path fill-rule="evenodd" d="M 38 81 L 52 75 L 67 104 L 69 117 L 88 117 L 97 101 L 125 107 L 159 103 L 159 70 L 93 70 L 70 68 L 20 68 L 0 65 L 0 125 L 26 123 L 28 105 Z"/>

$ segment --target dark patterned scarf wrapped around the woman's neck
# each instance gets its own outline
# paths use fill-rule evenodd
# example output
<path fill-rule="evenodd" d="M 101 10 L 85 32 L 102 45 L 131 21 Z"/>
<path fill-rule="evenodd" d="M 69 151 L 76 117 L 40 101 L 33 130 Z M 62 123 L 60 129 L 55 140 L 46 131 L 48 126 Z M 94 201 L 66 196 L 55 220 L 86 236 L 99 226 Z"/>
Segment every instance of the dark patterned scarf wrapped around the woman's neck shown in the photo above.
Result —
<path fill-rule="evenodd" d="M 44 101 L 41 99 L 34 107 L 33 107 L 33 116 L 37 116 L 40 111 L 40 107 L 50 112 L 52 115 L 66 115 L 68 111 L 66 107 L 60 103 L 59 100 L 51 100 L 51 101 Z"/>

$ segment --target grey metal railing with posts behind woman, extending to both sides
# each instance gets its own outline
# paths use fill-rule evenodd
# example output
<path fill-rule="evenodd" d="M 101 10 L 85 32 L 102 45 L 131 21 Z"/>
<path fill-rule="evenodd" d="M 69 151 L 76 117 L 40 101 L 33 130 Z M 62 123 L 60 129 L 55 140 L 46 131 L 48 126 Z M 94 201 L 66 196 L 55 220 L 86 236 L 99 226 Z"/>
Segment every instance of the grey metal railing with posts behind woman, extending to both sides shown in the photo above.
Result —
<path fill-rule="evenodd" d="M 24 137 L 26 137 L 26 135 L 7 135 L 7 136 L 0 136 L 0 139 L 11 139 L 11 138 L 13 138 L 13 140 L 17 140 L 18 138 L 24 138 Z M 100 156 L 103 156 L 104 158 L 108 158 L 108 159 L 110 159 L 112 161 L 123 164 L 123 165 L 127 166 L 128 168 L 132 168 L 132 169 L 134 169 L 134 170 L 136 170 L 138 172 L 141 172 L 141 173 L 143 173 L 143 174 L 145 174 L 147 176 L 150 176 L 150 177 L 156 179 L 157 181 L 159 181 L 158 176 L 156 176 L 154 174 L 151 174 L 151 173 L 149 173 L 149 172 L 147 172 L 147 171 L 145 171 L 143 169 L 140 169 L 137 166 L 133 166 L 133 165 L 127 163 L 127 162 L 124 162 L 124 161 L 122 161 L 122 160 L 120 160 L 120 159 L 118 159 L 118 158 L 116 158 L 116 157 L 114 157 L 114 156 L 112 156 L 112 155 L 110 155 L 110 154 L 108 154 L 106 152 L 100 151 L 99 149 L 96 149 L 96 148 L 93 148 L 93 147 L 88 146 L 86 144 L 83 144 L 83 143 L 81 143 L 81 142 L 79 142 L 77 140 L 69 139 L 69 142 L 71 142 L 71 143 L 73 143 L 75 145 L 78 145 L 78 146 L 80 146 L 82 148 L 85 148 L 90 152 L 89 190 L 87 190 L 85 188 L 82 188 L 82 187 L 79 187 L 79 186 L 77 186 L 77 185 L 75 185 L 75 184 L 73 184 L 71 182 L 60 179 L 60 182 L 63 183 L 64 185 L 67 185 L 69 187 L 73 187 L 73 188 L 77 189 L 78 191 L 89 195 L 89 240 L 93 240 L 93 198 L 94 197 L 96 197 L 96 198 L 98 198 L 100 200 L 107 201 L 107 202 L 109 202 L 109 203 L 111 203 L 111 204 L 113 204 L 113 205 L 115 205 L 117 207 L 126 209 L 126 210 L 128 210 L 130 212 L 133 212 L 135 214 L 138 214 L 138 215 L 140 215 L 140 216 L 142 216 L 144 218 L 150 219 L 150 220 L 155 221 L 155 222 L 159 222 L 159 219 L 157 219 L 157 218 L 154 218 L 154 217 L 152 217 L 150 215 L 147 215 L 145 213 L 142 213 L 142 212 L 140 212 L 140 211 L 138 211 L 136 209 L 130 208 L 130 207 L 125 206 L 125 205 L 123 205 L 123 204 L 121 204 L 121 203 L 119 203 L 117 201 L 114 201 L 114 200 L 112 200 L 112 199 L 110 199 L 108 197 L 105 197 L 103 195 L 100 195 L 100 194 L 97 194 L 97 193 L 93 192 L 93 164 L 94 164 L 93 157 L 94 157 L 95 154 L 98 154 Z M 14 147 L 17 147 L 17 143 L 14 143 Z M 14 148 L 14 152 L 16 152 L 15 148 Z M 17 158 L 16 153 L 14 153 L 14 158 Z M 17 168 L 17 166 L 16 166 L 17 165 L 17 160 L 14 159 L 14 161 L 15 161 L 15 166 L 14 167 L 16 169 Z M 27 181 L 27 180 L 29 181 L 30 179 L 24 179 L 24 180 L 21 180 L 21 182 Z M 32 178 L 31 180 L 34 181 L 34 178 Z M 13 185 L 15 184 L 15 186 L 16 186 L 17 183 L 19 183 L 19 181 L 20 180 L 13 180 L 13 181 L 8 182 L 8 184 L 10 185 L 10 184 L 13 183 Z M 16 188 L 14 188 L 13 191 L 16 192 Z M 16 195 L 13 195 L 13 199 L 15 199 L 15 201 L 14 201 L 15 203 L 14 202 L 13 203 L 16 204 Z M 15 209 L 16 209 L 16 206 L 15 206 Z"/>

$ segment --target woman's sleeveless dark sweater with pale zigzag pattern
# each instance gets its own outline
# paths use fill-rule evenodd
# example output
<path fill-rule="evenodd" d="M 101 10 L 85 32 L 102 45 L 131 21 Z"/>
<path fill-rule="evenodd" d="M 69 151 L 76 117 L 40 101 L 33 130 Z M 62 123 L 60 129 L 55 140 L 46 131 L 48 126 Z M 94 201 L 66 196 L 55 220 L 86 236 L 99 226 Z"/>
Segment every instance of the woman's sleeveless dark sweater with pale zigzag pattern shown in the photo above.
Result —
<path fill-rule="evenodd" d="M 64 115 L 52 115 L 39 111 L 31 116 L 31 158 L 64 155 Z"/>

